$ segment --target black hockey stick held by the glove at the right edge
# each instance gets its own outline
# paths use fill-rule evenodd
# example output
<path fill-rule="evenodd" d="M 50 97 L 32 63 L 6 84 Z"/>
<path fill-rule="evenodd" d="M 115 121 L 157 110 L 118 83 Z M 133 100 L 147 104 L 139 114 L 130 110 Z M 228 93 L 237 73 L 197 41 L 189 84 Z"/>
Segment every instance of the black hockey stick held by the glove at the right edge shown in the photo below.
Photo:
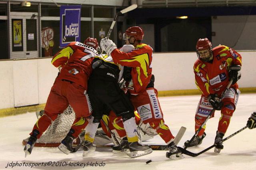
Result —
<path fill-rule="evenodd" d="M 222 143 L 222 142 L 228 140 L 229 138 L 231 138 L 231 137 L 235 136 L 236 134 L 242 132 L 242 131 L 243 131 L 244 129 L 246 129 L 246 128 L 247 128 L 247 125 L 246 125 L 245 127 L 241 128 L 240 130 L 234 132 L 233 134 L 229 135 L 228 137 L 226 137 L 226 138 L 220 140 L 220 142 L 218 142 L 218 143 Z M 206 149 L 204 149 L 204 150 L 202 150 L 201 152 L 198 152 L 198 153 L 190 152 L 190 151 L 188 151 L 188 150 L 186 150 L 185 148 L 182 148 L 182 147 L 180 147 L 180 146 L 178 146 L 178 148 L 182 151 L 182 154 L 185 154 L 185 155 L 188 155 L 188 156 L 192 156 L 192 157 L 196 157 L 196 156 L 198 156 L 198 155 L 200 155 L 200 154 L 206 152 L 207 150 L 210 150 L 211 148 L 215 147 L 216 145 L 217 145 L 217 144 L 213 144 L 212 146 L 209 146 L 208 148 L 206 148 Z"/>

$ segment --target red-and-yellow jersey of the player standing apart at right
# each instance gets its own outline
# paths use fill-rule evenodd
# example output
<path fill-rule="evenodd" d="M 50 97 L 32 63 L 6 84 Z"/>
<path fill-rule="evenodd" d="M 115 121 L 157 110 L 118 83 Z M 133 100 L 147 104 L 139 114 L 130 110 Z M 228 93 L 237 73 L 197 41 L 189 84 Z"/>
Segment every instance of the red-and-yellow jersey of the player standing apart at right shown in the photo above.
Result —
<path fill-rule="evenodd" d="M 242 66 L 241 55 L 230 47 L 219 45 L 214 47 L 212 52 L 212 63 L 199 59 L 194 63 L 196 86 L 204 96 L 214 93 L 221 95 L 229 83 L 229 66 Z M 238 84 L 235 83 L 231 87 L 238 88 Z"/>

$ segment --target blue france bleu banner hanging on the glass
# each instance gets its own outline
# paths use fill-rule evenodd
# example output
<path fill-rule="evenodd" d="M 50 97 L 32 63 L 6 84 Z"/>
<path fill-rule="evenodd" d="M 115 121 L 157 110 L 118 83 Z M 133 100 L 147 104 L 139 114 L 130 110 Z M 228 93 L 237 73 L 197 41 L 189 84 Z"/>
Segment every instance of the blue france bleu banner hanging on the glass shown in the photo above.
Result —
<path fill-rule="evenodd" d="M 80 42 L 81 6 L 60 6 L 60 47 Z"/>

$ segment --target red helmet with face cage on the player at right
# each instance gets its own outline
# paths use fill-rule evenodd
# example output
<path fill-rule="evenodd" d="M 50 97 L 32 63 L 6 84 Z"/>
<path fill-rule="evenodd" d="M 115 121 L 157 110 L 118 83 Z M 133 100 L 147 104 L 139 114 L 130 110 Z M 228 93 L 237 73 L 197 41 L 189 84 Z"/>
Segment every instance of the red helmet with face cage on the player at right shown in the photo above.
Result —
<path fill-rule="evenodd" d="M 207 39 L 199 39 L 196 43 L 197 57 L 202 61 L 210 61 L 212 59 L 212 43 Z"/>

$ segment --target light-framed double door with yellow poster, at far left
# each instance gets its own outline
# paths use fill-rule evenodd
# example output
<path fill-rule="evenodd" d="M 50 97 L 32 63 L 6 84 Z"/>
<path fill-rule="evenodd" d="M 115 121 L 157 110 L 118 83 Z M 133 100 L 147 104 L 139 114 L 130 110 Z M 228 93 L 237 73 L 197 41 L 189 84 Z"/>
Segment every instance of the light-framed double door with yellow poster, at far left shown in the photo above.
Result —
<path fill-rule="evenodd" d="M 10 12 L 10 59 L 38 57 L 38 13 Z"/>

